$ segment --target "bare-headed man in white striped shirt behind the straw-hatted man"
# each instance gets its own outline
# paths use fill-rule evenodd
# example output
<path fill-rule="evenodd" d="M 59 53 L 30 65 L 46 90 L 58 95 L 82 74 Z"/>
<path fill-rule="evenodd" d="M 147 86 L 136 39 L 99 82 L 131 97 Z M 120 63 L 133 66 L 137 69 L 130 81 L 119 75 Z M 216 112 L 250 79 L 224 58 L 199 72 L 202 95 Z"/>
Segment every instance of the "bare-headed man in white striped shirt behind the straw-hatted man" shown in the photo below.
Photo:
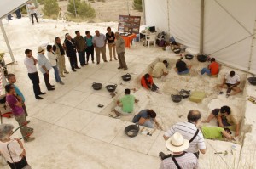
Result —
<path fill-rule="evenodd" d="M 183 138 L 189 140 L 189 148 L 185 149 L 185 151 L 195 154 L 198 158 L 199 151 L 205 154 L 207 150 L 201 130 L 196 127 L 201 120 L 201 113 L 198 110 L 190 110 L 187 118 L 187 122 L 177 122 L 167 130 L 164 134 L 164 139 L 169 139 L 175 132 L 181 133 Z"/>

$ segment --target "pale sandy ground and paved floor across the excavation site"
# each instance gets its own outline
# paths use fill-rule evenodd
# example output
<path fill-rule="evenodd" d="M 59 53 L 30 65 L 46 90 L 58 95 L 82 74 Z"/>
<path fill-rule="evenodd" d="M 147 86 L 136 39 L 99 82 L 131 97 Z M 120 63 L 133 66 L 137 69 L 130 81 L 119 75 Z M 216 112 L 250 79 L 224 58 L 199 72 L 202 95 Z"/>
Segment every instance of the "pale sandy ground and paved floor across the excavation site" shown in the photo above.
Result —
<path fill-rule="evenodd" d="M 160 166 L 158 153 L 166 152 L 162 138 L 164 131 L 177 121 L 186 121 L 189 110 L 200 110 L 203 118 L 206 118 L 212 109 L 228 104 L 242 121 L 247 112 L 253 112 L 255 109 L 246 102 L 249 93 L 247 91 L 251 93 L 255 91 L 255 88 L 245 83 L 246 73 L 236 70 L 241 76 L 241 87 L 245 87 L 245 92 L 226 99 L 224 95 L 217 95 L 213 88 L 222 82 L 224 74 L 231 69 L 222 66 L 218 78 L 199 76 L 198 71 L 207 66 L 207 63 L 199 63 L 196 59 L 186 61 L 193 65 L 189 76 L 177 76 L 173 70 L 174 65 L 171 64 L 168 76 L 154 80 L 162 94 L 144 90 L 140 87 L 139 79 L 150 71 L 150 65 L 155 60 L 166 58 L 176 60 L 178 57 L 169 48 L 166 51 L 153 46 L 147 48 L 140 42 L 135 42 L 130 49 L 126 49 L 125 58 L 129 70 L 117 70 L 117 61 L 100 65 L 90 64 L 76 73 L 70 71 L 71 73 L 63 78 L 64 86 L 55 84 L 56 90 L 47 92 L 44 100 L 38 101 L 33 97 L 32 83 L 27 77 L 23 64 L 25 48 L 31 48 L 33 55 L 36 56 L 39 45 L 52 43 L 56 36 L 63 39 L 66 32 L 70 32 L 73 37 L 76 30 L 93 32 L 98 29 L 105 33 L 107 26 L 111 26 L 113 31 L 117 30 L 117 23 L 114 22 L 69 23 L 69 25 L 61 22 L 56 24 L 55 20 L 40 20 L 39 24 L 32 25 L 27 18 L 11 20 L 9 24 L 4 23 L 16 60 L 15 65 L 9 65 L 8 69 L 9 72 L 15 73 L 17 86 L 25 94 L 31 126 L 35 128 L 36 140 L 25 144 L 26 156 L 33 168 L 157 168 Z M 17 27 L 19 29 L 15 29 Z M 63 31 L 64 27 L 67 27 L 68 31 Z M 0 46 L 7 51 L 3 37 Z M 9 54 L 6 54 L 5 59 L 7 63 L 10 62 Z M 68 62 L 66 63 L 70 70 Z M 46 91 L 44 78 L 40 72 L 38 73 L 40 86 Z M 126 73 L 132 75 L 131 82 L 121 80 L 121 76 Z M 53 71 L 50 74 L 50 82 L 55 82 Z M 93 82 L 102 82 L 103 86 L 117 84 L 117 96 L 112 98 L 105 87 L 100 91 L 94 91 L 91 88 Z M 138 89 L 137 92 L 132 93 L 140 100 L 133 113 L 136 114 L 144 108 L 154 109 L 164 131 L 157 130 L 152 137 L 139 134 L 136 138 L 127 138 L 123 130 L 131 124 L 133 115 L 122 117 L 120 120 L 108 117 L 115 101 L 123 95 L 127 87 Z M 188 99 L 183 99 L 178 104 L 173 103 L 170 95 L 181 89 L 205 92 L 207 98 L 198 104 Z M 98 104 L 103 104 L 104 107 L 98 108 Z M 242 121 L 244 127 L 241 129 L 241 139 L 245 137 L 247 140 L 246 144 L 243 144 L 243 149 L 241 144 L 206 140 L 207 154 L 200 156 L 201 168 L 242 168 L 238 167 L 242 160 L 247 162 L 247 166 L 253 167 L 253 154 L 248 155 L 247 151 L 253 146 L 254 137 L 251 136 L 252 133 L 246 133 L 254 132 L 253 119 L 255 118 L 246 116 L 246 120 Z M 3 119 L 3 121 L 17 126 L 14 119 Z M 209 125 L 216 125 L 216 121 L 212 121 Z M 15 137 L 20 137 L 20 133 L 17 132 Z M 236 148 L 232 149 L 231 146 L 234 145 Z M 226 156 L 214 155 L 214 152 L 225 150 L 229 151 Z"/>

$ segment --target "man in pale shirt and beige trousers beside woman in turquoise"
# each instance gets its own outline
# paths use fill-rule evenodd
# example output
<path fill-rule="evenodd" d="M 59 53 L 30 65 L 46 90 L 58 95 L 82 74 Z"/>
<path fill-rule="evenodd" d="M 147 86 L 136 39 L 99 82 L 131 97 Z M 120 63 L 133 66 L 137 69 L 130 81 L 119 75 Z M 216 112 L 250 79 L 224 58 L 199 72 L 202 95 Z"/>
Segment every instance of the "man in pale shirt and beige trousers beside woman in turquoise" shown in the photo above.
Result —
<path fill-rule="evenodd" d="M 104 60 L 104 62 L 108 62 L 106 58 L 106 42 L 107 42 L 107 39 L 105 35 L 100 33 L 100 31 L 96 30 L 95 36 L 92 39 L 92 43 L 96 51 L 97 64 L 99 64 L 101 61 L 101 53 L 102 53 L 102 59 Z"/>

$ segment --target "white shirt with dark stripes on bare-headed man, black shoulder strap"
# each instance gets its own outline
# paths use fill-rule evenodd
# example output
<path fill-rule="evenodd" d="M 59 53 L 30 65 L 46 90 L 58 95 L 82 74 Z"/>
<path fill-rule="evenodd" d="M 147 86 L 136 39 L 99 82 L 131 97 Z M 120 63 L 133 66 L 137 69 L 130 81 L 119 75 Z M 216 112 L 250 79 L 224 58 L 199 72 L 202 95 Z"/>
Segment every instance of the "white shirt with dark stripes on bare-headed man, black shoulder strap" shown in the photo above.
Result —
<path fill-rule="evenodd" d="M 194 137 L 196 130 L 197 127 L 193 123 L 178 122 L 165 133 L 165 136 L 170 138 L 175 132 L 179 132 L 183 135 L 184 139 L 190 140 Z M 189 149 L 186 149 L 186 151 L 196 153 L 199 149 L 207 149 L 201 130 L 198 132 L 195 139 L 189 143 Z"/>

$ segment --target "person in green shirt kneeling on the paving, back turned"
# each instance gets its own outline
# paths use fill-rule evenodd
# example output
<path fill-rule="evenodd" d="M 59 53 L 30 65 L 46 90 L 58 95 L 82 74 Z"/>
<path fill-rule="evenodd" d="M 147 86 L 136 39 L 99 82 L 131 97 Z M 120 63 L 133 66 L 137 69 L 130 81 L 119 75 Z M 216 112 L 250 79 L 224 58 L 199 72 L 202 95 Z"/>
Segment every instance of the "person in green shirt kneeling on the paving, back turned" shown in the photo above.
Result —
<path fill-rule="evenodd" d="M 131 115 L 133 111 L 134 103 L 137 103 L 139 100 L 136 99 L 133 95 L 130 94 L 131 90 L 125 89 L 125 96 L 117 101 L 118 106 L 113 110 L 115 115 L 109 114 L 110 116 L 116 118 L 119 115 Z"/>

